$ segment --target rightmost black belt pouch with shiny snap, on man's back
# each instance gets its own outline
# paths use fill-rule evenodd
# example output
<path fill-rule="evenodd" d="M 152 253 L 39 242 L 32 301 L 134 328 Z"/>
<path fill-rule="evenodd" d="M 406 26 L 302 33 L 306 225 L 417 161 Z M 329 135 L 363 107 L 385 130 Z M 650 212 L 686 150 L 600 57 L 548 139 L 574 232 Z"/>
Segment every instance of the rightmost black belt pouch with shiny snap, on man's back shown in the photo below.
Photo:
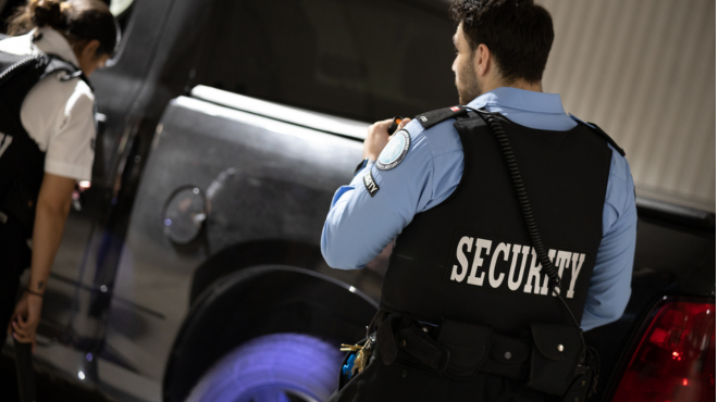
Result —
<path fill-rule="evenodd" d="M 582 354 L 581 329 L 569 325 L 532 324 L 533 350 L 527 387 L 562 395 Z"/>

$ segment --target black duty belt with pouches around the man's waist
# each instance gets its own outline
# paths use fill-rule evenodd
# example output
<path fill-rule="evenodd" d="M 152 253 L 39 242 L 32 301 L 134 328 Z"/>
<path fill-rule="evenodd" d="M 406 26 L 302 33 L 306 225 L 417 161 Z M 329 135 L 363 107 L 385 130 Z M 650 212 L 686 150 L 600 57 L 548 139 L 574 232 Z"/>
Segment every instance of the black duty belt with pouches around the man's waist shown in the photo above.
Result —
<path fill-rule="evenodd" d="M 476 373 L 507 377 L 560 395 L 581 375 L 581 331 L 570 325 L 532 324 L 521 337 L 494 332 L 485 325 L 444 319 L 436 337 L 398 314 L 380 314 L 377 348 L 384 364 L 397 357 L 454 379 Z"/>

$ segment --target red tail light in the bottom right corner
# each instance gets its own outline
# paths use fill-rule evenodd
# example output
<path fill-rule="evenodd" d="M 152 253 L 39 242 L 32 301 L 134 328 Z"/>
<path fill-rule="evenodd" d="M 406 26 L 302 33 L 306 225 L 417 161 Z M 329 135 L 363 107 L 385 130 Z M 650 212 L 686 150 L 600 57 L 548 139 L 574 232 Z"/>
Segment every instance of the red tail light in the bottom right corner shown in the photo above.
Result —
<path fill-rule="evenodd" d="M 614 402 L 715 401 L 715 301 L 667 301 L 656 310 Z"/>

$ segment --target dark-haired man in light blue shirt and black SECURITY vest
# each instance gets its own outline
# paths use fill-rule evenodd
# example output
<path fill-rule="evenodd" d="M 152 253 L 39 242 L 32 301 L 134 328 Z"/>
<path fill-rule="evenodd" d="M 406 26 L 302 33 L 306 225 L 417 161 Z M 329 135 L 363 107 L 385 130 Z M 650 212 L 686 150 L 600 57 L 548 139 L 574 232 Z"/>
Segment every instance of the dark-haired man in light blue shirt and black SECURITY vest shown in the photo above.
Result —
<path fill-rule="evenodd" d="M 628 162 L 542 92 L 545 9 L 455 0 L 450 11 L 462 105 L 405 121 L 391 141 L 391 121 L 372 125 L 364 163 L 332 200 L 330 266 L 394 250 L 369 365 L 331 400 L 581 400 L 587 381 L 574 379 L 593 363 L 578 325 L 616 321 L 630 296 Z"/>

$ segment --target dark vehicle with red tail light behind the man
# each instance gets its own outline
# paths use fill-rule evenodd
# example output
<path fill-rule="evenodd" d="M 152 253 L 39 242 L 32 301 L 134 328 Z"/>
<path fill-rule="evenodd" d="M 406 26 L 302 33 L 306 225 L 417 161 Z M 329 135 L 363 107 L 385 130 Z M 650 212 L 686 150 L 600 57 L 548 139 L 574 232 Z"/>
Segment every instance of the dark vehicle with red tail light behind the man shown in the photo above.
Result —
<path fill-rule="evenodd" d="M 125 35 L 92 76 L 92 185 L 52 269 L 37 363 L 122 400 L 326 399 L 391 250 L 331 269 L 322 225 L 368 122 L 456 103 L 447 3 L 113 7 Z M 599 398 L 709 400 L 715 215 L 644 199 L 639 213 L 626 314 L 586 334 Z"/>

